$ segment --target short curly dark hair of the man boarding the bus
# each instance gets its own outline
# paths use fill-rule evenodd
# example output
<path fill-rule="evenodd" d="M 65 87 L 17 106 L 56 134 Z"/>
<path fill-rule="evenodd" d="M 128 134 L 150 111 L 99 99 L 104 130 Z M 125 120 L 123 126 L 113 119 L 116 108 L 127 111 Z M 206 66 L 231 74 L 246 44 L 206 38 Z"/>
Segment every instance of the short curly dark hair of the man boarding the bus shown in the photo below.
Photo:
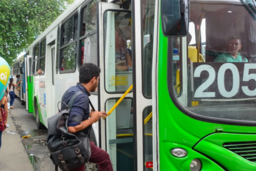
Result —
<path fill-rule="evenodd" d="M 79 70 L 79 83 L 89 83 L 89 81 L 96 76 L 96 78 L 101 73 L 101 68 L 93 63 L 84 63 Z"/>

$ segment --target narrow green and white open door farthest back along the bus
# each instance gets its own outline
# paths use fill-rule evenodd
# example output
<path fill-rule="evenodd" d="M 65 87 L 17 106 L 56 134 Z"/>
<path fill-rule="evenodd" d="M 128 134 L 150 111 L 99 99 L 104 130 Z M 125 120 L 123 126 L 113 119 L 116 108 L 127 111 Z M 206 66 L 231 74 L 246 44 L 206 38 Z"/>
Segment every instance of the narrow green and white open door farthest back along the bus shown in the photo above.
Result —
<path fill-rule="evenodd" d="M 27 67 L 26 67 L 26 72 L 27 72 L 27 83 L 26 83 L 26 101 L 27 101 L 27 108 L 29 113 L 33 113 L 33 102 L 32 99 L 34 98 L 33 95 L 33 80 L 32 80 L 32 62 L 33 58 L 32 55 L 27 55 Z"/>

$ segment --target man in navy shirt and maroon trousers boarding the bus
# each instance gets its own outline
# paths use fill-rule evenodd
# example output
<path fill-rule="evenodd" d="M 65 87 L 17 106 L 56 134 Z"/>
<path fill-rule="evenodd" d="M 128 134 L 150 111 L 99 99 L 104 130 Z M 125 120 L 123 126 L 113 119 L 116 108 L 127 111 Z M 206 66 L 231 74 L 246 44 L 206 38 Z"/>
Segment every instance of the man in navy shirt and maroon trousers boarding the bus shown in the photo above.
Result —
<path fill-rule="evenodd" d="M 62 96 L 62 102 L 68 104 L 72 96 L 77 91 L 84 91 L 81 95 L 78 95 L 74 100 L 74 103 L 69 114 L 69 121 L 67 122 L 68 131 L 72 134 L 76 132 L 84 131 L 85 134 L 89 133 L 89 127 L 92 124 L 99 121 L 101 117 L 106 117 L 105 111 L 91 111 L 89 110 L 89 92 L 96 90 L 99 84 L 99 74 L 101 69 L 93 63 L 85 63 L 79 70 L 79 83 L 76 86 L 71 86 Z M 61 110 L 66 108 L 66 105 L 61 104 Z M 94 142 L 90 141 L 91 145 L 91 157 L 89 162 L 98 165 L 100 171 L 112 171 L 112 164 L 109 154 L 106 151 L 97 147 Z M 72 171 L 84 171 L 85 166 L 79 167 Z"/>

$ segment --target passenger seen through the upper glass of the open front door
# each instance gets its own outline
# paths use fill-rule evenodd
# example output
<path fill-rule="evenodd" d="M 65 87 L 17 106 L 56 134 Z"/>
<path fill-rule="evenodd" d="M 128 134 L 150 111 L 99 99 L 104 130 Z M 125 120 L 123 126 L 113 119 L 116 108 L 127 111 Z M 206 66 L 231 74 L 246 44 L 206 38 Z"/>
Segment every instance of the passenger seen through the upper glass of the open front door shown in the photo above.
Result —
<path fill-rule="evenodd" d="M 122 35 L 119 27 L 115 30 L 115 46 L 116 46 L 116 70 L 117 71 L 132 71 L 132 58 L 127 43 Z"/>

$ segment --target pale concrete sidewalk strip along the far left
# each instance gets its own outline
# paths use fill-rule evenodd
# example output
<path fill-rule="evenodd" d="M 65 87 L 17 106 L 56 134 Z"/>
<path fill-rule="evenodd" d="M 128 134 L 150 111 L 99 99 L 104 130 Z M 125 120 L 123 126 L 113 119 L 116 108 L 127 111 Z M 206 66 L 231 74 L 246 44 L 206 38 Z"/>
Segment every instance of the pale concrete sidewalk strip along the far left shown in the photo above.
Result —
<path fill-rule="evenodd" d="M 6 131 L 16 131 L 10 114 L 7 124 L 10 126 L 2 132 L 2 147 L 0 149 L 0 170 L 1 171 L 34 171 L 28 158 L 27 152 L 21 142 L 19 133 L 11 134 Z"/>

